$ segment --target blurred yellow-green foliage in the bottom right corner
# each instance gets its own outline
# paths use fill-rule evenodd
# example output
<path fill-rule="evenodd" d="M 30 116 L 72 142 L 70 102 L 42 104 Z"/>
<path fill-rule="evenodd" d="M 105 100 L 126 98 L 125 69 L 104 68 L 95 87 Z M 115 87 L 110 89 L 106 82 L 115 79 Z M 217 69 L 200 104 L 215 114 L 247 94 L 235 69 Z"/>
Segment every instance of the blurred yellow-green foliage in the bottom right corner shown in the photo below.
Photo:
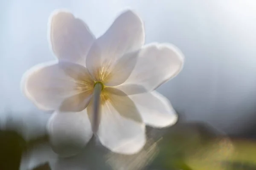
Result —
<path fill-rule="evenodd" d="M 173 128 L 148 170 L 256 170 L 256 141 L 233 139 L 204 124 Z"/>

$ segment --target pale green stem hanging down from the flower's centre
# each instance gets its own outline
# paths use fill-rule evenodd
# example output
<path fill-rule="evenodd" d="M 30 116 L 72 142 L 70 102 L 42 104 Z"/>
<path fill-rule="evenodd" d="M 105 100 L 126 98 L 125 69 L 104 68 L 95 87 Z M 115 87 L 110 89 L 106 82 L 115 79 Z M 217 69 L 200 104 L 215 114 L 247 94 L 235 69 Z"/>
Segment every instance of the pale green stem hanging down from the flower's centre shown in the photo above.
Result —
<path fill-rule="evenodd" d="M 102 83 L 96 82 L 93 89 L 93 133 L 96 134 L 99 128 L 99 107 Z"/>

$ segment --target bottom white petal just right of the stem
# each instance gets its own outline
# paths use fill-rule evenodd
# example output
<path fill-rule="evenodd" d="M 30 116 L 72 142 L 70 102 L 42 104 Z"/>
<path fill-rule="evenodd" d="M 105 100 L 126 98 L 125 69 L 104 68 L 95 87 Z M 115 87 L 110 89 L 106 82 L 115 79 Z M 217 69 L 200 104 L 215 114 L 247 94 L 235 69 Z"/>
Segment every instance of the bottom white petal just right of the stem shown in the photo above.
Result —
<path fill-rule="evenodd" d="M 101 108 L 97 133 L 99 140 L 102 145 L 116 153 L 134 154 L 139 152 L 145 144 L 145 125 L 140 121 L 134 121 L 134 116 L 124 116 L 132 114 L 137 108 L 125 100 L 120 102 L 113 100 L 115 105 L 110 100 L 105 101 Z"/>

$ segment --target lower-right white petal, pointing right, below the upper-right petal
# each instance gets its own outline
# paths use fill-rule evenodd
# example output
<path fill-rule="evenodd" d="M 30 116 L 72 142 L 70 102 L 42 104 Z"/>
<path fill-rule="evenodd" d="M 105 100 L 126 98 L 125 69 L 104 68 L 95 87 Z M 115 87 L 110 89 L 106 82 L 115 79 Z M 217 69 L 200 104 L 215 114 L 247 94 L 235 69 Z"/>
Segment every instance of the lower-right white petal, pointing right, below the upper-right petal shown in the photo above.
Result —
<path fill-rule="evenodd" d="M 177 122 L 178 116 L 169 100 L 156 91 L 131 95 L 130 98 L 140 111 L 146 125 L 166 127 Z"/>

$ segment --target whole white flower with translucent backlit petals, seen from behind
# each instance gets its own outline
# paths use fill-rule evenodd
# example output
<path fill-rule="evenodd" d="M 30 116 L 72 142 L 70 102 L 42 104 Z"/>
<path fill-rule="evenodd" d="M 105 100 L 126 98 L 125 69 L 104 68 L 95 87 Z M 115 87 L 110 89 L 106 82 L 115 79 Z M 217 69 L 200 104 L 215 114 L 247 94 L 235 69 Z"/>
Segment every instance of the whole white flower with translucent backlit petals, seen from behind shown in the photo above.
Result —
<path fill-rule="evenodd" d="M 177 122 L 169 100 L 154 91 L 183 68 L 184 57 L 171 44 L 144 45 L 140 17 L 126 10 L 99 38 L 68 11 L 49 20 L 49 42 L 57 60 L 29 69 L 23 93 L 44 110 L 55 152 L 65 140 L 84 147 L 93 133 L 113 152 L 137 153 L 145 144 L 145 125 Z M 144 46 L 143 46 L 144 45 Z"/>

